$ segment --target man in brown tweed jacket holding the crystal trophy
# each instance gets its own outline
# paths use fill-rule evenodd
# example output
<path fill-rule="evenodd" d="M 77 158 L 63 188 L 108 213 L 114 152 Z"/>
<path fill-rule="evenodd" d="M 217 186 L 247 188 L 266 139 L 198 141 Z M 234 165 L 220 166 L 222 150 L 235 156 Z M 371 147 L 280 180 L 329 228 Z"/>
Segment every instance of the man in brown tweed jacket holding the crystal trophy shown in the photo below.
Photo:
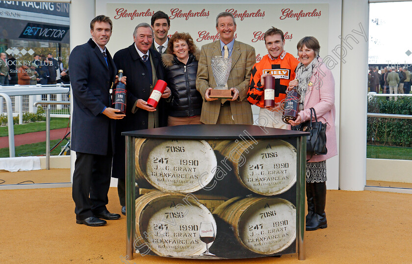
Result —
<path fill-rule="evenodd" d="M 231 13 L 222 12 L 216 18 L 216 30 L 220 40 L 202 46 L 199 60 L 196 88 L 204 98 L 200 121 L 204 124 L 244 124 L 252 125 L 252 109 L 246 100 L 252 67 L 256 62 L 255 48 L 234 40 L 236 22 Z M 225 51 L 226 50 L 226 51 Z M 228 88 L 232 99 L 227 101 L 210 98 L 210 90 L 216 87 L 211 58 L 232 57 L 232 67 L 228 78 Z"/>

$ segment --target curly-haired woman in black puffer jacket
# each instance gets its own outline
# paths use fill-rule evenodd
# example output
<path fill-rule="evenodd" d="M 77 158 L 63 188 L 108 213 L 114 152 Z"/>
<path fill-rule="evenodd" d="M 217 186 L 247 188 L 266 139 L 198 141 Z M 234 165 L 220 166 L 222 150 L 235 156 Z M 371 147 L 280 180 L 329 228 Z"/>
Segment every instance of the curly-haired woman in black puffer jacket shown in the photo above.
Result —
<path fill-rule="evenodd" d="M 202 96 L 196 90 L 200 51 L 188 33 L 176 32 L 162 55 L 167 86 L 172 91 L 168 126 L 202 124 Z"/>

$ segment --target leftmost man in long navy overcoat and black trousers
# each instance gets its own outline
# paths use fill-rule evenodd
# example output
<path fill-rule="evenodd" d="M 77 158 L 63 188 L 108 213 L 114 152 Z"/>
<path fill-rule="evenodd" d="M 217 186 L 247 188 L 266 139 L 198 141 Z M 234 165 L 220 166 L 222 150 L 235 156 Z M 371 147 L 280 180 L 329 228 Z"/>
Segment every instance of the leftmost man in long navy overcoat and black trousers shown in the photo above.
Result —
<path fill-rule="evenodd" d="M 125 115 L 111 108 L 110 88 L 116 66 L 105 45 L 112 32 L 103 15 L 90 22 L 92 38 L 70 54 L 73 89 L 72 150 L 76 151 L 73 200 L 76 222 L 89 226 L 120 218 L 107 211 L 107 193 L 114 150 L 114 120 Z M 122 82 L 125 82 L 125 78 Z"/>

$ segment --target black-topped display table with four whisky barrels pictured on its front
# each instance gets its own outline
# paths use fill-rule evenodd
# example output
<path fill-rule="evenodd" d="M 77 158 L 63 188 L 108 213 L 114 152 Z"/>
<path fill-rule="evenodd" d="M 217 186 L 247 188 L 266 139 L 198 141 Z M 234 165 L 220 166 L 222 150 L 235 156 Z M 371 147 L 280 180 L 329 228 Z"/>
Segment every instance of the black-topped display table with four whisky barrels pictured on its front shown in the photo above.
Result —
<path fill-rule="evenodd" d="M 250 125 L 123 132 L 128 260 L 305 260 L 307 134 Z"/>

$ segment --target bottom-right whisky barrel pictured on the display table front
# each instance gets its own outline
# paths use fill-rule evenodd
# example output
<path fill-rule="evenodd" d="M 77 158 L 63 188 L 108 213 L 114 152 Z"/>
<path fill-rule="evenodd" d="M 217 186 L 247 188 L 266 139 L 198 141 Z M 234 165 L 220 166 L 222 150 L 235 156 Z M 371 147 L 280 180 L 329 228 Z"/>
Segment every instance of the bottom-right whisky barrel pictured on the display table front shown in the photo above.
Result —
<path fill-rule="evenodd" d="M 296 207 L 282 198 L 234 197 L 213 215 L 231 226 L 240 245 L 258 254 L 281 252 L 296 239 Z"/>

